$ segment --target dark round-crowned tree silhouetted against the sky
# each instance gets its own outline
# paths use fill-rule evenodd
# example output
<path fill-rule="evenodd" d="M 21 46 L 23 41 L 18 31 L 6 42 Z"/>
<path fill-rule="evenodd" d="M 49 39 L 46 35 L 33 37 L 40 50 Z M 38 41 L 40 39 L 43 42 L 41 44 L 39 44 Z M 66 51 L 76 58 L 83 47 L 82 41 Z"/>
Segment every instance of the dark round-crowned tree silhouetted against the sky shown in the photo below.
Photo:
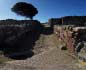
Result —
<path fill-rule="evenodd" d="M 31 20 L 33 19 L 33 16 L 38 14 L 37 8 L 35 8 L 32 4 L 26 3 L 26 2 L 18 2 L 16 3 L 11 10 L 18 15 L 29 17 Z"/>

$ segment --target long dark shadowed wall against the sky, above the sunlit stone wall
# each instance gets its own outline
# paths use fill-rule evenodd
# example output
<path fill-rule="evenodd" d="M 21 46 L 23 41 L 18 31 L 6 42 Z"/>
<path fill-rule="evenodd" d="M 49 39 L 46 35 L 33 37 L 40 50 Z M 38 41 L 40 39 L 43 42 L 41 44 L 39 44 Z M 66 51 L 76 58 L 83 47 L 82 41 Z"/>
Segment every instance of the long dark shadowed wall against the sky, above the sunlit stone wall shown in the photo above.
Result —
<path fill-rule="evenodd" d="M 51 18 L 49 23 L 53 25 L 75 25 L 86 26 L 86 16 L 64 16 L 61 18 Z"/>

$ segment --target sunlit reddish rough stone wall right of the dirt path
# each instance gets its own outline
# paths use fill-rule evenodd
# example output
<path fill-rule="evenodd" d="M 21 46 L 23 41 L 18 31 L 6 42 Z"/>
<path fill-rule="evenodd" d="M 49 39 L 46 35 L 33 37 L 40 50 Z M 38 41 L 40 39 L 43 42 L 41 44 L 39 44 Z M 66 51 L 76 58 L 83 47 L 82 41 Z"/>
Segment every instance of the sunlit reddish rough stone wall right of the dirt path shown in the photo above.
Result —
<path fill-rule="evenodd" d="M 86 27 L 73 27 L 71 29 L 70 26 L 57 26 L 54 33 L 72 53 L 80 53 L 81 49 L 86 46 L 84 45 L 86 43 Z"/>

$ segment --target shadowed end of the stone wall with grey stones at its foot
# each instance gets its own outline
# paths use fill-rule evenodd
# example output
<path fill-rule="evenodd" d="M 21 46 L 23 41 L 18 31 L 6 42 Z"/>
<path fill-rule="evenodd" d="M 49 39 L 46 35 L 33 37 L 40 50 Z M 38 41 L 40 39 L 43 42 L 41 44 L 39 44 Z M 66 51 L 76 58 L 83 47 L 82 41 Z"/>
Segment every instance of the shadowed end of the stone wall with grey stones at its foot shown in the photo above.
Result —
<path fill-rule="evenodd" d="M 75 38 L 75 52 L 80 62 L 86 64 L 86 29 L 79 29 Z"/>

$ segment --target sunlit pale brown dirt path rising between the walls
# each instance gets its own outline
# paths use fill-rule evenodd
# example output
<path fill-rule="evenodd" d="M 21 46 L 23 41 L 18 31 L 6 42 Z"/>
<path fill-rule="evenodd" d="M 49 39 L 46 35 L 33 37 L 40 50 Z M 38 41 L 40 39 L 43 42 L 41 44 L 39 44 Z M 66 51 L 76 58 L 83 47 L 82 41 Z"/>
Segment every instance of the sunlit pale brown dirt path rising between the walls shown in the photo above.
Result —
<path fill-rule="evenodd" d="M 54 35 L 44 36 L 42 53 L 26 60 L 7 62 L 0 70 L 77 70 L 76 61 L 56 47 Z"/>

